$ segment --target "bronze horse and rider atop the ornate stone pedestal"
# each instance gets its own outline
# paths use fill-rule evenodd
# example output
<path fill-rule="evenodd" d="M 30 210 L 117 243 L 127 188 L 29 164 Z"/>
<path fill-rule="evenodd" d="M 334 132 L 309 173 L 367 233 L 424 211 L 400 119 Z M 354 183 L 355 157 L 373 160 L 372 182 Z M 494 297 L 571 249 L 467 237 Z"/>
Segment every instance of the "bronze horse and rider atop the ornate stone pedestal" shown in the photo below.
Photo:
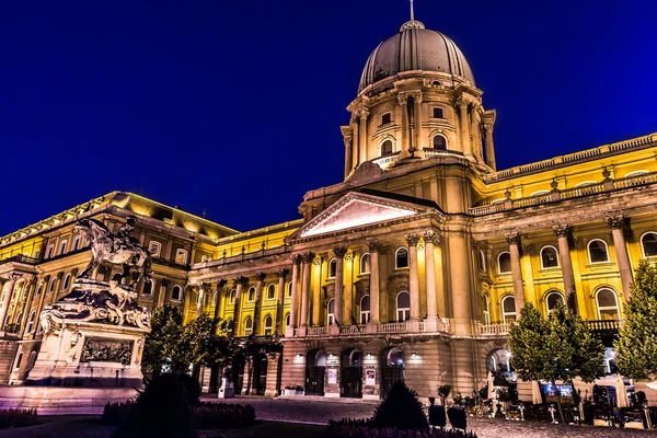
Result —
<path fill-rule="evenodd" d="M 76 223 L 74 229 L 91 243 L 92 254 L 91 262 L 79 275 L 79 278 L 89 278 L 93 269 L 99 267 L 102 262 L 107 262 L 123 266 L 119 281 L 129 277 L 130 268 L 139 274 L 130 286 L 135 286 L 141 278 L 151 279 L 151 254 L 131 235 L 135 230 L 135 218 L 128 218 L 127 223 L 114 233 L 103 222 L 95 219 L 81 219 Z"/>

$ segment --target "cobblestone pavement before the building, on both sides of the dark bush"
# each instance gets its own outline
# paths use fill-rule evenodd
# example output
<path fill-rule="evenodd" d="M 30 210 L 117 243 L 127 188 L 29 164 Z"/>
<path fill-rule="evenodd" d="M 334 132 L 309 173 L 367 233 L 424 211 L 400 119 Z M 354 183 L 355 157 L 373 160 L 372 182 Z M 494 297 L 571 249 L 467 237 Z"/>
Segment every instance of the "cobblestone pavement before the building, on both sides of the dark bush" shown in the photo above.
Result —
<path fill-rule="evenodd" d="M 232 399 L 230 403 L 251 404 L 258 419 L 326 424 L 328 419 L 367 418 L 372 415 L 374 404 L 325 402 L 312 399 L 272 400 L 263 397 Z M 215 399 L 216 400 L 216 399 Z M 212 400 L 212 401 L 215 401 Z M 207 400 L 206 400 L 207 401 Z M 469 429 L 479 438 L 657 438 L 655 430 L 612 429 L 590 426 L 564 426 L 538 422 L 507 422 L 499 419 L 468 418 Z"/>

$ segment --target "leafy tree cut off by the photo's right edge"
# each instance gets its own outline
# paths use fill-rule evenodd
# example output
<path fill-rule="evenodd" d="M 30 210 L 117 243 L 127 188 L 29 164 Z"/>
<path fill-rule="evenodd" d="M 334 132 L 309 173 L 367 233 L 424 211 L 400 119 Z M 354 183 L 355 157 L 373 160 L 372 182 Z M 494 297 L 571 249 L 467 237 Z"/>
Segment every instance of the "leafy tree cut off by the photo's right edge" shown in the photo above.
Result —
<path fill-rule="evenodd" d="M 634 274 L 632 298 L 616 348 L 616 367 L 631 379 L 648 379 L 657 373 L 657 268 L 642 262 Z"/>

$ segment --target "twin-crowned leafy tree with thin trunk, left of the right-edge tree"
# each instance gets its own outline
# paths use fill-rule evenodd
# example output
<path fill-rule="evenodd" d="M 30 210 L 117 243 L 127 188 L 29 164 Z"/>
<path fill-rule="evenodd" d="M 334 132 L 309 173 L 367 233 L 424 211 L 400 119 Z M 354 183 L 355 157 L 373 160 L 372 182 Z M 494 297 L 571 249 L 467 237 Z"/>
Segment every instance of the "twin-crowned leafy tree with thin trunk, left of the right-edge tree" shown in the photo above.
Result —
<path fill-rule="evenodd" d="M 579 377 L 592 382 L 603 376 L 604 346 L 589 325 L 563 303 L 548 319 L 530 303 L 520 312 L 520 321 L 509 331 L 511 365 L 523 380 L 544 380 L 555 390 L 556 407 L 565 423 L 556 382 L 572 383 Z"/>

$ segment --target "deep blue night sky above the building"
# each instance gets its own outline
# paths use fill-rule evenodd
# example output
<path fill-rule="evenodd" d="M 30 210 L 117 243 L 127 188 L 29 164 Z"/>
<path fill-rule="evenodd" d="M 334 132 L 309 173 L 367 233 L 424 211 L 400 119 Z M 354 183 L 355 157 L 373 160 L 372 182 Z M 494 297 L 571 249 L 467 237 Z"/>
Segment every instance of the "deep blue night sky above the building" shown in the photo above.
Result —
<path fill-rule="evenodd" d="M 496 108 L 500 169 L 657 131 L 656 2 L 416 0 Z M 342 181 L 406 0 L 5 1 L 0 234 L 113 189 L 240 230 Z"/>

